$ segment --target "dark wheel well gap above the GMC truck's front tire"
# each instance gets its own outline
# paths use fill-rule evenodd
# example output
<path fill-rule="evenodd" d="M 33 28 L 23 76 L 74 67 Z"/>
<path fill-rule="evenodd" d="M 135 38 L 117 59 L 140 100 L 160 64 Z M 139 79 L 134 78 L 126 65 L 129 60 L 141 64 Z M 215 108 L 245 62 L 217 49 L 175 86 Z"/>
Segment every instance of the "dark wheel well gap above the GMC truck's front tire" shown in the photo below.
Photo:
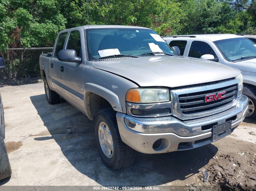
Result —
<path fill-rule="evenodd" d="M 112 108 L 110 103 L 105 98 L 95 93 L 90 93 L 89 106 L 90 106 L 91 116 L 93 117 L 93 119 L 95 119 L 96 114 L 98 113 L 99 110 L 102 110 L 108 107 Z"/>

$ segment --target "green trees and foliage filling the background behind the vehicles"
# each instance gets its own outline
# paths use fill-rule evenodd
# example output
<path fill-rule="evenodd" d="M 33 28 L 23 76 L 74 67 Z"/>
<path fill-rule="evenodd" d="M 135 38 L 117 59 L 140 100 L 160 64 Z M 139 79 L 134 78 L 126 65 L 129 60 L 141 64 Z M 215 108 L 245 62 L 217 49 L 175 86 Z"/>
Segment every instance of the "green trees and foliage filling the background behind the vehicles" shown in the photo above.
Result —
<path fill-rule="evenodd" d="M 0 50 L 52 46 L 65 28 L 135 25 L 160 35 L 256 33 L 255 0 L 1 0 Z"/>

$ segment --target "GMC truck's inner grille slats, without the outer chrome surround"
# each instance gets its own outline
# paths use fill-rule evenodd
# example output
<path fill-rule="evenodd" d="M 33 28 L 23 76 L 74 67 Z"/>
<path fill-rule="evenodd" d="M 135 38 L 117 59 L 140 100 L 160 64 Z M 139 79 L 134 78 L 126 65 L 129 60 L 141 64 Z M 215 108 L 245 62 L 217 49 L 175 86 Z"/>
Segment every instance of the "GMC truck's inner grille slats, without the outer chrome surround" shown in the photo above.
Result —
<path fill-rule="evenodd" d="M 207 91 L 200 91 L 190 94 L 181 94 L 179 95 L 179 103 L 181 112 L 183 114 L 191 114 L 196 112 L 203 112 L 211 109 L 215 109 L 226 104 L 231 103 L 235 99 L 237 91 L 237 85 L 230 85 L 224 88 L 217 88 Z M 210 102 L 205 102 L 205 97 L 207 95 L 215 94 L 217 95 L 220 92 L 226 92 L 224 98 L 213 100 Z"/>

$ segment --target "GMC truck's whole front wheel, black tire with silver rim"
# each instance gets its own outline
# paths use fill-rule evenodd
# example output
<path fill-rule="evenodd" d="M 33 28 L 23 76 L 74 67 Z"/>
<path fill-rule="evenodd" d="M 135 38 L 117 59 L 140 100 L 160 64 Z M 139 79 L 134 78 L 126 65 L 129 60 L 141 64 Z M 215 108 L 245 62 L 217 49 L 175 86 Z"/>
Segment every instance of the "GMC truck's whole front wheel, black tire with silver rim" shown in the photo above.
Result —
<path fill-rule="evenodd" d="M 135 150 L 122 142 L 112 108 L 100 110 L 95 119 L 95 139 L 99 154 L 106 166 L 118 170 L 131 165 Z"/>

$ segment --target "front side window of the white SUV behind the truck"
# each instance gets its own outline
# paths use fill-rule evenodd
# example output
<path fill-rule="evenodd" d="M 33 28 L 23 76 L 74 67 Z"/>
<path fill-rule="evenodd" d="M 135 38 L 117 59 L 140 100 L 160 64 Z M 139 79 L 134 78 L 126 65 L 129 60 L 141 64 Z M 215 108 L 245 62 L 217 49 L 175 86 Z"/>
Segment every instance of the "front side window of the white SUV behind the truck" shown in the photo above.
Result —
<path fill-rule="evenodd" d="M 207 43 L 201 41 L 192 42 L 188 52 L 189 57 L 201 58 L 201 56 L 205 54 L 211 54 L 214 56 L 214 58 L 218 58 L 217 55 L 214 53 L 213 49 L 211 48 L 211 46 Z"/>

